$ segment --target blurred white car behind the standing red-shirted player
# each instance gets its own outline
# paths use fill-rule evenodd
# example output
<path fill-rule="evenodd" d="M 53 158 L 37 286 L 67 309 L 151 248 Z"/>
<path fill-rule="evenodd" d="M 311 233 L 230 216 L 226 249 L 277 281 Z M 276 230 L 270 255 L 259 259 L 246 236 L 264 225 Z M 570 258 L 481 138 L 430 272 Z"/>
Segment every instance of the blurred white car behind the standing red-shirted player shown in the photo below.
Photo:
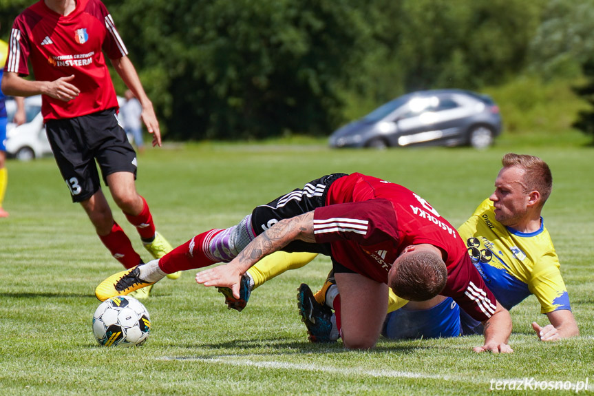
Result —
<path fill-rule="evenodd" d="M 17 111 L 17 103 L 6 101 L 8 120 L 12 120 Z M 52 155 L 52 148 L 45 135 L 43 116 L 41 116 L 41 95 L 25 98 L 27 121 L 23 125 L 9 122 L 6 126 L 6 152 L 9 156 L 22 161 Z"/>

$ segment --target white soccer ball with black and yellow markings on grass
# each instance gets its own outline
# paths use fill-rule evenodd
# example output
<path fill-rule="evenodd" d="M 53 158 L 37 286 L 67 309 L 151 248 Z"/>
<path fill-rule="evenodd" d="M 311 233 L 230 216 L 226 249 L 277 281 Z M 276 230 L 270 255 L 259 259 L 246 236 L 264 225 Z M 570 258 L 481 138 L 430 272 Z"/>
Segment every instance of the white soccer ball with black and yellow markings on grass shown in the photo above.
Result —
<path fill-rule="evenodd" d="M 103 346 L 142 345 L 150 331 L 149 312 L 140 301 L 127 295 L 105 300 L 93 315 L 93 333 Z"/>

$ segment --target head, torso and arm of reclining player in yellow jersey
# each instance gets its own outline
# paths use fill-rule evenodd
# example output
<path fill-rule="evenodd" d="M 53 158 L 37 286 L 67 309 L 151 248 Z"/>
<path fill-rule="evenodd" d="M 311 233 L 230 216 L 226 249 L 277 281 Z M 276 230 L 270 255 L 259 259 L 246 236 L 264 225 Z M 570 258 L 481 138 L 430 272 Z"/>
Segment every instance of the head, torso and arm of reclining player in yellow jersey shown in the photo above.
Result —
<path fill-rule="evenodd" d="M 538 157 L 507 154 L 495 191 L 463 225 L 460 236 L 489 289 L 507 309 L 533 294 L 547 326 L 533 322 L 540 340 L 579 334 L 560 263 L 541 212 L 551 194 L 549 166 Z"/>

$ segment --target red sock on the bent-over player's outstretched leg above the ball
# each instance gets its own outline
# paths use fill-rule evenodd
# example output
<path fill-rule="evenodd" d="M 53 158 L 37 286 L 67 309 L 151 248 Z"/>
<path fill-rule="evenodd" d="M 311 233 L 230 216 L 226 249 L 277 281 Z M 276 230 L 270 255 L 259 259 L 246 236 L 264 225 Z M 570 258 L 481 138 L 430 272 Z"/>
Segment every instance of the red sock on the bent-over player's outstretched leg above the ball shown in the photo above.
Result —
<path fill-rule="evenodd" d="M 174 273 L 208 267 L 219 260 L 211 256 L 208 251 L 209 242 L 222 229 L 211 229 L 195 236 L 188 242 L 176 247 L 159 260 L 159 268 L 165 273 Z"/>

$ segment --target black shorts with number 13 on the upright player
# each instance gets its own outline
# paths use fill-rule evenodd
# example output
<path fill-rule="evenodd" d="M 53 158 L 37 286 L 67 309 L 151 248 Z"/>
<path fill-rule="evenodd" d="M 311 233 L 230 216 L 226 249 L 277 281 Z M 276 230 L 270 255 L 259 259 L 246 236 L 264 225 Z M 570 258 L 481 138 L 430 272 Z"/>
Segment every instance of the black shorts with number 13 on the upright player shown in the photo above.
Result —
<path fill-rule="evenodd" d="M 115 109 L 50 120 L 45 132 L 72 202 L 87 200 L 101 188 L 95 160 L 105 185 L 114 172 L 130 172 L 136 178 L 136 152 L 118 124 Z"/>

